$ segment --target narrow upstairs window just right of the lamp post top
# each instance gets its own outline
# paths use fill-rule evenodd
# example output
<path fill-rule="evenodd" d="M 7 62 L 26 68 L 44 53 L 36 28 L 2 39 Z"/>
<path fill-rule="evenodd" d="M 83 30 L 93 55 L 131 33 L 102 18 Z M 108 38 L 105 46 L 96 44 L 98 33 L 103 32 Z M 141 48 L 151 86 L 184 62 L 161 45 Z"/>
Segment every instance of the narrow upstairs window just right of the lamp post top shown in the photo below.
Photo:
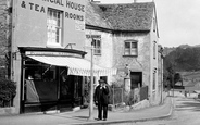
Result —
<path fill-rule="evenodd" d="M 101 54 L 101 36 L 100 35 L 92 35 L 92 46 L 95 48 L 93 54 Z"/>

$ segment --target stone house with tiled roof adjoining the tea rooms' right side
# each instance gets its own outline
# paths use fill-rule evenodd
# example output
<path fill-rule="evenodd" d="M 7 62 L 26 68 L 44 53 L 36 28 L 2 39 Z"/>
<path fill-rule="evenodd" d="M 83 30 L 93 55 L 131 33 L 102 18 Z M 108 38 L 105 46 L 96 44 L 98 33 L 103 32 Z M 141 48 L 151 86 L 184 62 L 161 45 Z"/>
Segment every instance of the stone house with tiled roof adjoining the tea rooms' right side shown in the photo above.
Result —
<path fill-rule="evenodd" d="M 128 65 L 130 85 L 125 86 L 130 90 L 148 86 L 151 104 L 158 104 L 159 32 L 154 2 L 88 2 L 85 45 L 90 43 L 89 36 L 98 36 L 99 51 L 95 54 L 95 63 L 117 68 L 117 75 L 108 78 L 109 83 L 123 85 L 126 77 L 125 65 Z M 90 59 L 90 51 L 87 52 L 86 58 Z"/>

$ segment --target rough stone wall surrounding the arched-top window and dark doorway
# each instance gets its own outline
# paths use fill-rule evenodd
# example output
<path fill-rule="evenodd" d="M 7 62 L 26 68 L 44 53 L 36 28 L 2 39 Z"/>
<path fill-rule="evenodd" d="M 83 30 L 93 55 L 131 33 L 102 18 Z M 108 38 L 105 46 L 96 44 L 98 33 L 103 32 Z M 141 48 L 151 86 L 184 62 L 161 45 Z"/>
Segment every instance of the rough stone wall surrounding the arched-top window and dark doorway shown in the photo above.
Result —
<path fill-rule="evenodd" d="M 124 41 L 133 39 L 138 41 L 138 57 L 124 57 Z M 128 64 L 132 72 L 142 72 L 142 85 L 150 83 L 150 43 L 148 33 L 121 33 L 113 35 L 113 66 L 118 70 L 116 82 L 124 83 L 123 72 Z"/>

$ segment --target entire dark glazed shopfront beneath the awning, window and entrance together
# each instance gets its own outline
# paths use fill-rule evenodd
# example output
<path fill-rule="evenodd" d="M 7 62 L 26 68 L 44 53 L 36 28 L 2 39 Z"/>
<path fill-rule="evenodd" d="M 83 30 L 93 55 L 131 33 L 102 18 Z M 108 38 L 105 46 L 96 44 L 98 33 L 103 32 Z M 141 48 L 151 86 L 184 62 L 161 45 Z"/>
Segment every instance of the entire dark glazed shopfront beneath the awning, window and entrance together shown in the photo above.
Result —
<path fill-rule="evenodd" d="M 25 110 L 33 104 L 65 109 L 83 103 L 83 76 L 67 75 L 67 67 L 49 65 L 28 57 L 24 67 Z"/>

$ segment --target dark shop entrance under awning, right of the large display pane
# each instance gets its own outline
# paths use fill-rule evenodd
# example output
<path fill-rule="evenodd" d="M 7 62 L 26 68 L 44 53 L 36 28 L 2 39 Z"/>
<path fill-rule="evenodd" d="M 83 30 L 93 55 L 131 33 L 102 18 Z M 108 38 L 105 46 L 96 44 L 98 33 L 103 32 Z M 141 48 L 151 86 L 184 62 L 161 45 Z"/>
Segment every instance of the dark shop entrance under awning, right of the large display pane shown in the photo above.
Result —
<path fill-rule="evenodd" d="M 67 75 L 66 67 L 60 67 L 60 111 L 82 105 L 83 76 Z"/>

